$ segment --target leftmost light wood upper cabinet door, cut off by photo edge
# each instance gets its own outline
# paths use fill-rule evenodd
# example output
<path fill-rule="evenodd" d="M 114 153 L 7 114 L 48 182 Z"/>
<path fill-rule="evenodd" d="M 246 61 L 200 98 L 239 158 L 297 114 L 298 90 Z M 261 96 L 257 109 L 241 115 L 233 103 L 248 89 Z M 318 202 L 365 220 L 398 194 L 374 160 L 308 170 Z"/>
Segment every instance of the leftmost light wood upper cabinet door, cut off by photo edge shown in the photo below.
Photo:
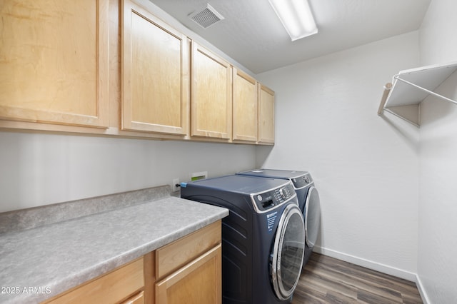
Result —
<path fill-rule="evenodd" d="M 109 0 L 0 4 L 0 119 L 109 126 Z"/>

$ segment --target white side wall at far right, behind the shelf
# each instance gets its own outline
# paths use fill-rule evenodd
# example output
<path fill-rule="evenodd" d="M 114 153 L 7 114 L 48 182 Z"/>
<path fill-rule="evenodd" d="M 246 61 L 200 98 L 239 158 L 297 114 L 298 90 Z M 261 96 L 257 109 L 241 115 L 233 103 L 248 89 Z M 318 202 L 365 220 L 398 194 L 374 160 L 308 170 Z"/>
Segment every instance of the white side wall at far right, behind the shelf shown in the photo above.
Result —
<path fill-rule="evenodd" d="M 421 29 L 421 66 L 457 61 L 457 1 L 433 0 Z M 457 100 L 457 73 L 438 92 Z M 428 303 L 457 299 L 457 106 L 421 103 L 418 278 Z"/>

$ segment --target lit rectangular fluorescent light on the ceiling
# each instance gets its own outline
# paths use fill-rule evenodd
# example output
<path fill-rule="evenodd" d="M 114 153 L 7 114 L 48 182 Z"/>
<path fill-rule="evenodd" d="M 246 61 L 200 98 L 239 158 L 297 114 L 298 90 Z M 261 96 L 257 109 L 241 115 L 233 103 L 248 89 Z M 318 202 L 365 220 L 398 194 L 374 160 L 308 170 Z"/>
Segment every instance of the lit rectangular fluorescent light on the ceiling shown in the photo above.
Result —
<path fill-rule="evenodd" d="M 308 0 L 268 0 L 292 41 L 317 33 Z"/>

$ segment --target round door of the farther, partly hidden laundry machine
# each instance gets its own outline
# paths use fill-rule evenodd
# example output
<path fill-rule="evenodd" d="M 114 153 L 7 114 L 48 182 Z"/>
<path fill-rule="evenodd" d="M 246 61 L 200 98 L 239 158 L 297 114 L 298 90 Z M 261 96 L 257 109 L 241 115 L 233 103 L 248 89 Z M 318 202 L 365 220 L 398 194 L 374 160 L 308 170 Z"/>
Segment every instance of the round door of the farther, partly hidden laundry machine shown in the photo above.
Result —
<path fill-rule="evenodd" d="M 316 244 L 321 224 L 321 200 L 316 187 L 311 187 L 308 190 L 303 216 L 305 217 L 306 245 L 312 248 Z"/>

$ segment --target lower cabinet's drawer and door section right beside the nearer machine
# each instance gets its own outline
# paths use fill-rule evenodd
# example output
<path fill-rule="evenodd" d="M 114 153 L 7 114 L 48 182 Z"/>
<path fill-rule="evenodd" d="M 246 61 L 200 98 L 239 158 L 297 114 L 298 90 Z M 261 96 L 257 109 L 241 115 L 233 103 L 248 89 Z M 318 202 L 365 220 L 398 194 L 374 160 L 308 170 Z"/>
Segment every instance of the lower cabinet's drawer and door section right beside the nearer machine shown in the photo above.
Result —
<path fill-rule="evenodd" d="M 156 250 L 156 304 L 221 303 L 221 221 Z"/>

